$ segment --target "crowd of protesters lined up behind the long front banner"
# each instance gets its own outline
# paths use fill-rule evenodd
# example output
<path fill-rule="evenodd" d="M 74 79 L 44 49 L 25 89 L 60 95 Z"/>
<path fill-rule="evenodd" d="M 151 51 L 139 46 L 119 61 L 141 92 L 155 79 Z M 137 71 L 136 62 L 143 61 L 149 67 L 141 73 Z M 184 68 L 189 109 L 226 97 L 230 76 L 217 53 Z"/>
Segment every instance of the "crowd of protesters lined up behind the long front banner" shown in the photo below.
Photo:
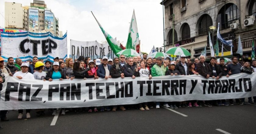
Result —
<path fill-rule="evenodd" d="M 170 58 L 157 57 L 151 58 L 147 54 L 135 57 L 125 57 L 120 55 L 119 58 L 110 59 L 106 56 L 98 59 L 91 59 L 90 57 L 80 56 L 78 59 L 73 61 L 72 58 L 61 59 L 56 57 L 54 62 L 38 59 L 33 57 L 33 61 L 29 64 L 22 62 L 20 58 L 15 59 L 10 57 L 5 65 L 4 59 L 0 57 L 0 90 L 2 90 L 2 83 L 5 82 L 3 73 L 9 74 L 10 76 L 17 77 L 18 79 L 39 79 L 52 81 L 53 79 L 88 79 L 99 77 L 104 79 L 115 79 L 125 77 L 148 77 L 151 79 L 155 76 L 177 76 L 177 75 L 201 75 L 206 79 L 213 78 L 219 79 L 222 76 L 229 77 L 230 75 L 238 74 L 241 72 L 252 74 L 256 71 L 256 60 L 245 62 L 244 64 L 238 62 L 237 57 L 231 58 L 232 62 L 225 63 L 224 58 L 220 58 L 217 62 L 215 57 L 210 58 L 210 63 L 205 62 L 205 57 L 201 55 L 199 58 L 195 58 L 194 62 L 190 61 L 190 58 L 186 58 L 185 55 L 181 55 L 180 58 L 171 61 Z M 65 61 L 65 62 L 64 62 Z M 236 104 L 245 104 L 244 98 L 234 98 Z M 248 103 L 255 104 L 256 97 L 248 98 Z M 229 100 L 212 100 L 212 101 L 183 101 L 183 102 L 163 102 L 163 106 L 167 108 L 181 108 L 181 107 L 202 107 L 212 105 L 216 106 L 228 106 L 233 105 L 233 99 Z M 130 109 L 131 107 L 138 108 L 141 111 L 150 110 L 150 108 L 160 108 L 160 102 L 147 102 L 140 103 L 137 105 L 119 105 L 119 106 L 105 106 L 100 107 L 100 111 L 116 111 L 118 108 L 122 111 Z M 87 109 L 87 110 L 86 110 Z M 46 109 L 36 109 L 37 116 L 44 115 Z M 57 109 L 52 110 L 52 115 L 57 114 Z M 62 108 L 61 114 L 65 115 L 71 108 Z M 90 108 L 73 108 L 73 111 L 79 113 L 80 111 L 97 112 L 97 107 Z M 26 118 L 30 118 L 30 109 L 26 109 Z M 0 112 L 1 121 L 8 121 L 6 117 L 7 110 Z M 18 110 L 18 119 L 23 118 L 23 110 Z M 0 125 L 0 129 L 1 129 Z"/>

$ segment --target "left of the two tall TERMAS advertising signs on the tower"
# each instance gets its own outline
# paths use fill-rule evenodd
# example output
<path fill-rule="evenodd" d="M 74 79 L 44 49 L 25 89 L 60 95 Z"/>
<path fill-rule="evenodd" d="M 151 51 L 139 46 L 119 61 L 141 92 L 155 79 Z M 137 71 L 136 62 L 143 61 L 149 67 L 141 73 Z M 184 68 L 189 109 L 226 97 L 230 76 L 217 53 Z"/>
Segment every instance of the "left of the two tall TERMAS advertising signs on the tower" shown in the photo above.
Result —
<path fill-rule="evenodd" d="M 29 28 L 38 29 L 38 10 L 29 9 Z"/>

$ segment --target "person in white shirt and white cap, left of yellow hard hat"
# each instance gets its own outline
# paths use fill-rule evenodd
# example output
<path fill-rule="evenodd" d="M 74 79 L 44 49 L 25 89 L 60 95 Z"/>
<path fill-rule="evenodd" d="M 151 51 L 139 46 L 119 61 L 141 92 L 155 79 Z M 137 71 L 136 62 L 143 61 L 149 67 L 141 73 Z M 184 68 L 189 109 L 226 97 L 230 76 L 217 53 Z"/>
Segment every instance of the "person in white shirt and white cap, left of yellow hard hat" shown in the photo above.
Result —
<path fill-rule="evenodd" d="M 28 64 L 27 63 L 22 63 L 21 64 L 21 71 L 16 72 L 13 77 L 17 77 L 18 79 L 22 79 L 22 78 L 26 78 L 26 79 L 35 79 L 34 75 L 30 72 L 28 72 Z M 23 109 L 19 109 L 19 115 L 18 115 L 18 119 L 22 118 L 22 113 L 23 113 Z M 26 109 L 26 118 L 30 118 L 30 109 Z"/>

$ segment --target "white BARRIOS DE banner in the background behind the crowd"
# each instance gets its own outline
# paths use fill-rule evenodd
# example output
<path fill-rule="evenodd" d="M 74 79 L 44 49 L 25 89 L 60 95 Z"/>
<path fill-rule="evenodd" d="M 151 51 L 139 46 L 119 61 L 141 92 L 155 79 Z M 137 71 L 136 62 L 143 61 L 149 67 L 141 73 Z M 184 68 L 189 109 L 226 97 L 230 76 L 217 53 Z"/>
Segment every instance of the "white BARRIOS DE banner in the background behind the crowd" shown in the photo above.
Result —
<path fill-rule="evenodd" d="M 108 43 L 100 44 L 97 41 L 75 41 L 70 40 L 70 58 L 78 58 L 80 55 L 91 57 L 91 59 L 116 57 Z"/>

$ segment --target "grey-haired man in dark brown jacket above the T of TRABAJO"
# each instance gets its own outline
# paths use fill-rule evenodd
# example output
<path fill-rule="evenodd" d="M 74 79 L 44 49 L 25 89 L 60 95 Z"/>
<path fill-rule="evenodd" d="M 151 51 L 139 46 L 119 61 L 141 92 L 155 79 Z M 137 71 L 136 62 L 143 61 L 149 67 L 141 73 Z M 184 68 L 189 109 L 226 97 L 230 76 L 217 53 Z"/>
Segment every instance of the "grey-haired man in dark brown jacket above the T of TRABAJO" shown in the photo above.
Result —
<path fill-rule="evenodd" d="M 212 77 L 212 69 L 208 63 L 205 62 L 205 57 L 204 55 L 201 55 L 199 57 L 200 62 L 197 64 L 197 72 L 201 75 L 204 76 L 205 78 L 210 78 Z M 211 101 L 205 101 L 205 106 L 212 107 L 212 104 L 210 104 Z"/>

